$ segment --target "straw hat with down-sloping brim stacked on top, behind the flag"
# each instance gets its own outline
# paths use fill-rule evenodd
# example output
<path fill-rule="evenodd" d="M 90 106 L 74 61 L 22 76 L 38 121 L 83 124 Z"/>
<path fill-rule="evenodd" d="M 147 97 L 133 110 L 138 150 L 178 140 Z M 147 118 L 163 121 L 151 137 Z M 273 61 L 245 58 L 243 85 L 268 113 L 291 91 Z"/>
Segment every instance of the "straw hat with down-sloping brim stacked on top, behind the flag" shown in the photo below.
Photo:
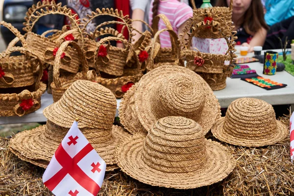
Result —
<path fill-rule="evenodd" d="M 79 128 L 99 128 L 110 132 L 116 108 L 116 98 L 109 89 L 96 82 L 77 80 L 52 107 L 45 109 L 44 115 L 63 127 L 71 127 L 73 121 L 79 118 Z M 58 110 L 65 113 L 66 121 L 58 115 L 50 115 L 58 113 Z"/>

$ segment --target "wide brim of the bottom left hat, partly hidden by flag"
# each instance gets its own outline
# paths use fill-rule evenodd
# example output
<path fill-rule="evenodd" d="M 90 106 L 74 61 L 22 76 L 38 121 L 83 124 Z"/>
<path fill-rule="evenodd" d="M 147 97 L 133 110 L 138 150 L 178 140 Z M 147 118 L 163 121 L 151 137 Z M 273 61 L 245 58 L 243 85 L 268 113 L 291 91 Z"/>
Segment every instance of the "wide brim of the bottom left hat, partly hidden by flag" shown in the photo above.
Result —
<path fill-rule="evenodd" d="M 122 127 L 116 125 L 113 125 L 112 136 L 114 136 L 113 141 L 103 147 L 91 143 L 99 156 L 105 161 L 107 171 L 117 168 L 115 165 L 117 164 L 115 149 L 121 141 L 130 137 L 126 131 L 123 131 Z M 10 140 L 9 146 L 12 149 L 11 151 L 20 159 L 46 168 L 62 139 L 63 137 L 46 134 L 46 125 L 42 125 L 16 134 Z"/>

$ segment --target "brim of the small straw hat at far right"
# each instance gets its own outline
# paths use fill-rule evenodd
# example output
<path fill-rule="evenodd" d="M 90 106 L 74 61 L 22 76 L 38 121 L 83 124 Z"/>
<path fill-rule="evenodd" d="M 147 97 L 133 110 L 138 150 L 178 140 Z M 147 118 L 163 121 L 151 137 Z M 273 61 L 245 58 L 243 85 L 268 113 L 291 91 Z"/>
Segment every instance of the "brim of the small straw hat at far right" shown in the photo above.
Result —
<path fill-rule="evenodd" d="M 236 146 L 245 146 L 245 147 L 262 147 L 267 145 L 275 144 L 287 137 L 289 134 L 289 130 L 287 126 L 280 121 L 276 120 L 277 122 L 277 130 L 275 131 L 275 135 L 270 138 L 265 139 L 258 139 L 258 140 L 250 140 L 245 138 L 238 138 L 233 135 L 228 134 L 223 129 L 225 117 L 217 120 L 217 122 L 211 128 L 211 132 L 213 136 L 219 139 L 222 142 L 236 145 Z"/>

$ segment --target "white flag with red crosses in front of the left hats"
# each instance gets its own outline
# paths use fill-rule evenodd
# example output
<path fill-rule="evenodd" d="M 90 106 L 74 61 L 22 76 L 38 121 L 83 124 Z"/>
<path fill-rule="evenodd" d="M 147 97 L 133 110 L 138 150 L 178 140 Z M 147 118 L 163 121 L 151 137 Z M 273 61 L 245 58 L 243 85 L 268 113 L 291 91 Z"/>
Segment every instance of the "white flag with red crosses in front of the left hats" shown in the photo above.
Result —
<path fill-rule="evenodd" d="M 97 196 L 106 164 L 77 127 L 77 121 L 55 151 L 43 183 L 55 196 Z"/>

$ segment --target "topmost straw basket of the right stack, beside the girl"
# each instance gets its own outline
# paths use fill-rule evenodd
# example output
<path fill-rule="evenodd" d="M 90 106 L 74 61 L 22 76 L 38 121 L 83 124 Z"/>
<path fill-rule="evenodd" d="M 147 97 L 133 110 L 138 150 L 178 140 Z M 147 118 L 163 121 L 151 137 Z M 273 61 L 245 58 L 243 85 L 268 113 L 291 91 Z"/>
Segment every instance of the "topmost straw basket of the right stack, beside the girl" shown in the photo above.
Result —
<path fill-rule="evenodd" d="M 230 37 L 230 29 L 226 26 L 232 25 L 233 0 L 230 0 L 229 7 L 207 7 L 196 8 L 195 1 L 191 0 L 193 5 L 193 26 L 197 28 L 195 36 L 199 38 L 223 38 Z M 203 25 L 200 25 L 203 24 Z M 205 25 L 212 25 L 207 28 Z"/>

